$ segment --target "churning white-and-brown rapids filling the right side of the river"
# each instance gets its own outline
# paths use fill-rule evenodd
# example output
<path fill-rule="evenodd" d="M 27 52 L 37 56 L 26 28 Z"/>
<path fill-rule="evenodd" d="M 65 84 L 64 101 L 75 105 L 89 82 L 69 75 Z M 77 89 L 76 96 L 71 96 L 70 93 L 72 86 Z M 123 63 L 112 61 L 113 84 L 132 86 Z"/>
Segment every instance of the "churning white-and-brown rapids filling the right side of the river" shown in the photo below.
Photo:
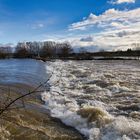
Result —
<path fill-rule="evenodd" d="M 51 116 L 89 140 L 140 140 L 140 61 L 48 62 Z"/>

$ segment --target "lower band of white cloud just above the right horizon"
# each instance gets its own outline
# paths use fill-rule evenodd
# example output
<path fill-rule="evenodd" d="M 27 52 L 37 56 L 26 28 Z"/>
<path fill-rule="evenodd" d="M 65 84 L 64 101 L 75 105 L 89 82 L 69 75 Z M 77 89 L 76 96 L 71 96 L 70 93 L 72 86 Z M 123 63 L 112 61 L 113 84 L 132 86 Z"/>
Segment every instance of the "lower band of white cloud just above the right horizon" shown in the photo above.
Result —
<path fill-rule="evenodd" d="M 88 41 L 89 36 L 79 37 L 71 40 L 71 44 L 74 47 L 96 48 L 97 50 L 126 50 L 128 48 L 134 48 L 133 44 L 140 44 L 140 30 L 119 30 L 112 32 L 103 32 L 91 36 L 91 40 Z"/>

